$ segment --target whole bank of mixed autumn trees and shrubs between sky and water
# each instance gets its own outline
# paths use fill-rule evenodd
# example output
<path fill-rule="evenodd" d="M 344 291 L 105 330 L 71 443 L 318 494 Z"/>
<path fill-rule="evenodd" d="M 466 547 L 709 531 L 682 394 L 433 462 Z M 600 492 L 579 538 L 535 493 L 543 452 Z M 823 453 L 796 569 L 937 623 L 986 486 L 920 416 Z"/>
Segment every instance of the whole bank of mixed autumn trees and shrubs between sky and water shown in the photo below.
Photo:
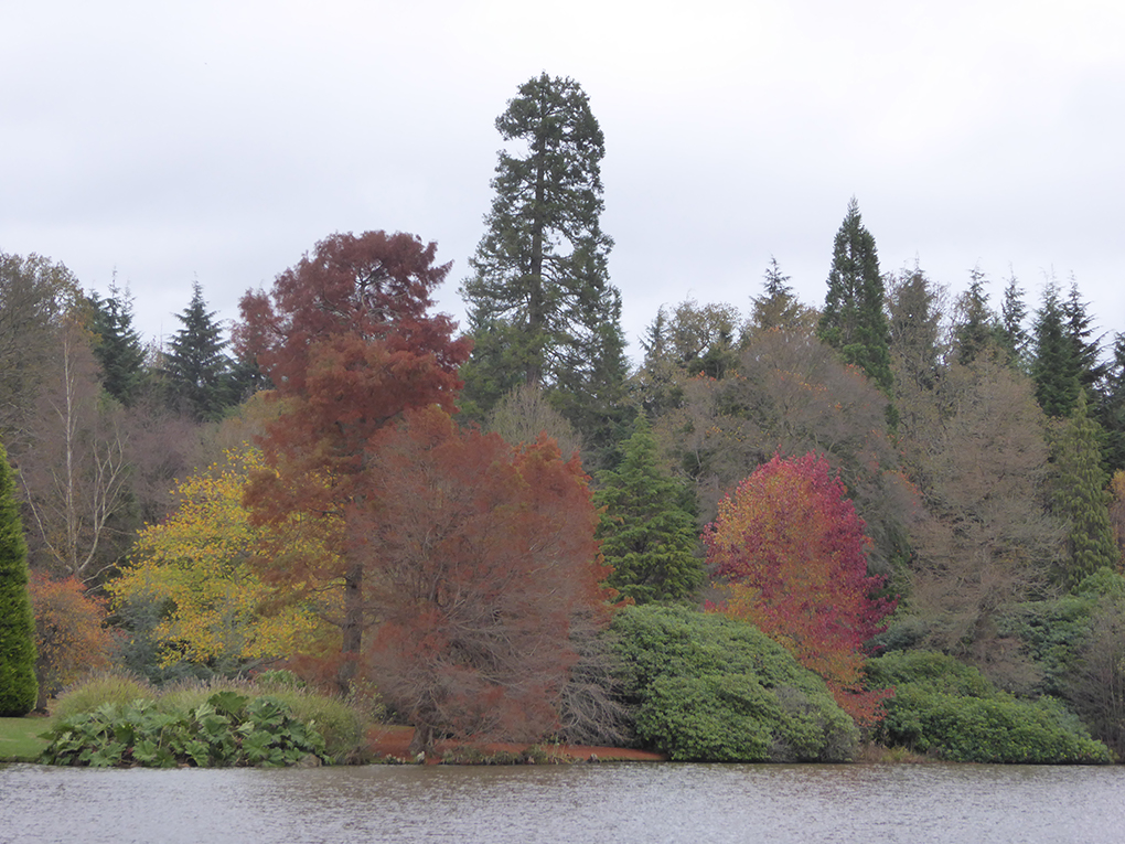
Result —
<path fill-rule="evenodd" d="M 410 758 L 1125 758 L 1125 334 L 1078 282 L 886 272 L 853 199 L 822 304 L 774 261 L 630 369 L 585 95 L 498 126 L 462 333 L 412 234 L 325 237 L 231 341 L 196 282 L 148 348 L 127 290 L 0 254 L 3 711 L 112 734 L 87 762 L 158 721 L 142 756 L 261 761 L 274 716 L 324 739 L 284 761 L 363 758 L 358 700 Z"/>

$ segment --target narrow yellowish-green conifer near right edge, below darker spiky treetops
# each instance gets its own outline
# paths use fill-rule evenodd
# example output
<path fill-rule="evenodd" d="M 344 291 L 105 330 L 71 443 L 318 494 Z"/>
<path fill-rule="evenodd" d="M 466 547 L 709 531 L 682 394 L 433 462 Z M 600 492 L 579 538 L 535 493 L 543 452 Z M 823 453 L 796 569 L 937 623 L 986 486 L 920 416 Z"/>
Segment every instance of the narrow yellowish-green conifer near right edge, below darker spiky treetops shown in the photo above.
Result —
<path fill-rule="evenodd" d="M 1087 413 L 1086 393 L 1079 392 L 1074 413 L 1055 447 L 1055 510 L 1069 523 L 1068 558 L 1059 580 L 1071 589 L 1099 568 L 1117 571 L 1120 566 L 1120 549 L 1109 523 L 1100 436 L 1098 423 Z"/>

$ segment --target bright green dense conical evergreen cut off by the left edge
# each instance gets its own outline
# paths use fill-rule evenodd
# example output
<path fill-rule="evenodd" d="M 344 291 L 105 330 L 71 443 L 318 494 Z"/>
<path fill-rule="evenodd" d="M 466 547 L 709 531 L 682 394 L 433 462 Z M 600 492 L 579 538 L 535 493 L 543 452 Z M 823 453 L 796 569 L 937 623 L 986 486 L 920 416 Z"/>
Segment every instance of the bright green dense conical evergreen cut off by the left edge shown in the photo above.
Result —
<path fill-rule="evenodd" d="M 35 708 L 35 656 L 27 545 L 8 452 L 0 445 L 0 718 L 18 718 Z"/>

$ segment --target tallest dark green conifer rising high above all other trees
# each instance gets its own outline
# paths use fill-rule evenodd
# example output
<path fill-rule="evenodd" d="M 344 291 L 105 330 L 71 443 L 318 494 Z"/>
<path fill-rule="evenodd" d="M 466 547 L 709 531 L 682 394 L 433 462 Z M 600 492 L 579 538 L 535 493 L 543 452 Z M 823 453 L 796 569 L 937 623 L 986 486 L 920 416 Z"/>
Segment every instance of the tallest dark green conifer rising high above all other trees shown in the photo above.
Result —
<path fill-rule="evenodd" d="M 542 385 L 587 439 L 604 445 L 623 394 L 621 295 L 601 230 L 602 131 L 582 87 L 546 73 L 496 118 L 501 151 L 487 231 L 462 287 L 476 348 L 467 408 L 484 417 L 518 380 Z"/>

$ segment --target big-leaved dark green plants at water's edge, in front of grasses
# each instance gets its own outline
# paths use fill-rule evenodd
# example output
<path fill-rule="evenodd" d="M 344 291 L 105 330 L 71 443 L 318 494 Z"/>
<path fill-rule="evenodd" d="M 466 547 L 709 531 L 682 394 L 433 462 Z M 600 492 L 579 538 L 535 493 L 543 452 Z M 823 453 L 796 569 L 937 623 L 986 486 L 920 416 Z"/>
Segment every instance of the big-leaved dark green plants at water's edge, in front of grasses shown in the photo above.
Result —
<path fill-rule="evenodd" d="M 183 712 L 162 711 L 151 699 L 102 703 L 61 718 L 44 734 L 40 762 L 111 767 L 284 766 L 308 757 L 326 761 L 324 738 L 312 721 L 295 718 L 277 698 L 215 692 Z"/>

